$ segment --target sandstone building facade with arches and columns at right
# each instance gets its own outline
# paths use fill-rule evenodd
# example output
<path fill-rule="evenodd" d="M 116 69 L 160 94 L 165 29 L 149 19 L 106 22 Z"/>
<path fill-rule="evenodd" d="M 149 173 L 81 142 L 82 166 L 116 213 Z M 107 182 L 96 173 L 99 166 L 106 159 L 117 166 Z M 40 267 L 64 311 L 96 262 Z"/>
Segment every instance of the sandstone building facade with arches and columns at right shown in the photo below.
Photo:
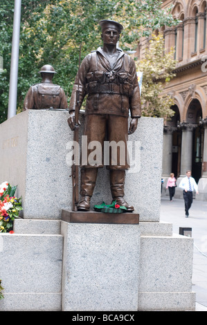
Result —
<path fill-rule="evenodd" d="M 164 93 L 174 98 L 175 114 L 163 130 L 163 178 L 192 170 L 198 199 L 207 201 L 207 1 L 166 0 L 178 26 L 163 28 L 165 51 L 175 48 L 177 66 Z"/>

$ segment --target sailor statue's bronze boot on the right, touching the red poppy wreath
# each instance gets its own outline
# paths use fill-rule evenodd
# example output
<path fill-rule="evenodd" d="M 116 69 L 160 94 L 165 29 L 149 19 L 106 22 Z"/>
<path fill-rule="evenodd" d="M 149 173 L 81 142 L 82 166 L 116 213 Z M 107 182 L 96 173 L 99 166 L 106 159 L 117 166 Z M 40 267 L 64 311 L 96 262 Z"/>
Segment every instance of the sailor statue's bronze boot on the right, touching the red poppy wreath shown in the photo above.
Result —
<path fill-rule="evenodd" d="M 116 204 L 123 205 L 127 208 L 127 212 L 133 212 L 134 207 L 129 205 L 124 199 L 125 196 L 125 170 L 111 169 L 110 170 L 110 186 L 113 201 Z"/>

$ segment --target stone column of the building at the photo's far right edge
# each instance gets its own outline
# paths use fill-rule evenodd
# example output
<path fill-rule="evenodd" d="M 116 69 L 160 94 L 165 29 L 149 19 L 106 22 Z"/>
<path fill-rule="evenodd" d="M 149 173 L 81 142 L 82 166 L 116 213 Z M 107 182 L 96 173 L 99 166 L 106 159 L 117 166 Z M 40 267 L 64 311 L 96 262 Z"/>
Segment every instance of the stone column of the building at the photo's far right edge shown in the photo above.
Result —
<path fill-rule="evenodd" d="M 199 179 L 199 194 L 196 195 L 197 200 L 207 201 L 207 118 L 201 120 L 204 127 L 204 154 L 202 163 L 202 177 Z"/>

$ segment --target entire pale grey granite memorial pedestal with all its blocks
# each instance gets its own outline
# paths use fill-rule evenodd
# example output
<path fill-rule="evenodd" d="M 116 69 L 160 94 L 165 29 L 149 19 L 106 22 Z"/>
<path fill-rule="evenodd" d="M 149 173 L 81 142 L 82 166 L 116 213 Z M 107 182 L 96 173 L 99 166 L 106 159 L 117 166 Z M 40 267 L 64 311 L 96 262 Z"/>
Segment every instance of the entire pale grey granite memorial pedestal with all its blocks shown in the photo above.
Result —
<path fill-rule="evenodd" d="M 193 239 L 160 222 L 163 120 L 141 118 L 129 136 L 125 198 L 138 223 L 78 223 L 62 219 L 72 198 L 67 118 L 25 111 L 0 125 L 0 183 L 18 185 L 24 207 L 15 234 L 0 234 L 0 310 L 195 310 Z M 105 168 L 91 210 L 102 201 L 111 203 Z"/>

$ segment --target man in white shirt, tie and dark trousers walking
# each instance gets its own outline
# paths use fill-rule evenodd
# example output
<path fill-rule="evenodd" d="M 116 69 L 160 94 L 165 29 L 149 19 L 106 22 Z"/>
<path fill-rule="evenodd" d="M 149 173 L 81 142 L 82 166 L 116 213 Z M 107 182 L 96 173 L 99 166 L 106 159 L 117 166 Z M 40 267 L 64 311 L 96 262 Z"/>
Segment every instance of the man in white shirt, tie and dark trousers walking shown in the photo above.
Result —
<path fill-rule="evenodd" d="M 186 218 L 189 216 L 188 210 L 190 209 L 192 205 L 192 192 L 195 190 L 197 194 L 198 192 L 198 186 L 195 182 L 195 179 L 191 177 L 191 171 L 186 171 L 186 177 L 181 180 L 181 183 L 179 184 L 179 187 L 183 189 L 183 198 L 185 202 L 185 210 L 186 210 Z"/>

